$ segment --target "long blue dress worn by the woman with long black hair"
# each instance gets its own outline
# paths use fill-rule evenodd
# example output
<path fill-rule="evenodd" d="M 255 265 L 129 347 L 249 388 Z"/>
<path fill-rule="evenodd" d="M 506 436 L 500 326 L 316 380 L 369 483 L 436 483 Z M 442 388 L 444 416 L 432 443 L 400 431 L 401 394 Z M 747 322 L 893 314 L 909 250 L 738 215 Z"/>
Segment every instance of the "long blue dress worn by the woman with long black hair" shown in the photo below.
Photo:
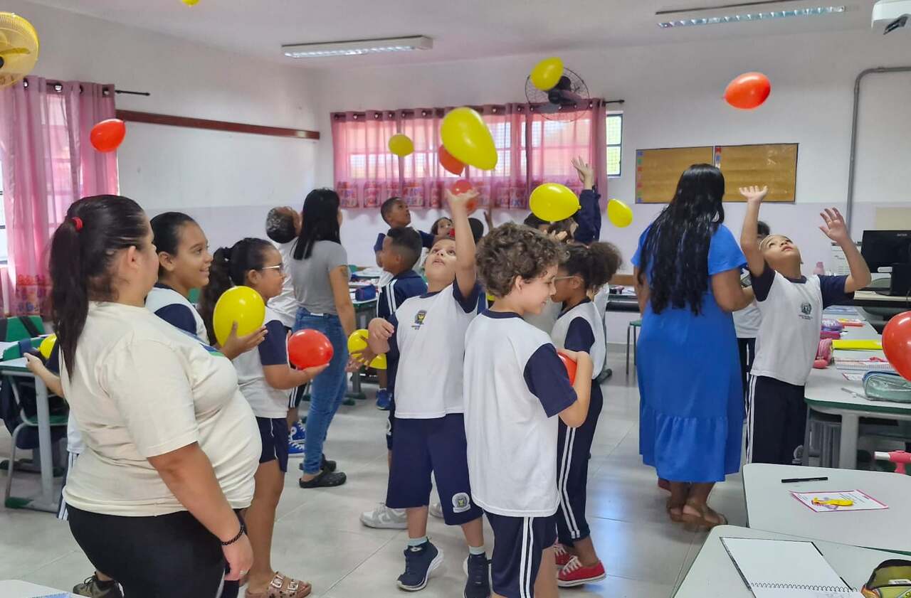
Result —
<path fill-rule="evenodd" d="M 632 263 L 649 228 L 639 239 Z M 711 237 L 709 275 L 746 266 L 731 231 Z M 649 269 L 653 264 L 649 259 Z M 743 390 L 732 315 L 709 289 L 701 314 L 689 306 L 660 314 L 649 304 L 642 316 L 637 355 L 642 461 L 669 481 L 723 481 L 740 470 Z"/>

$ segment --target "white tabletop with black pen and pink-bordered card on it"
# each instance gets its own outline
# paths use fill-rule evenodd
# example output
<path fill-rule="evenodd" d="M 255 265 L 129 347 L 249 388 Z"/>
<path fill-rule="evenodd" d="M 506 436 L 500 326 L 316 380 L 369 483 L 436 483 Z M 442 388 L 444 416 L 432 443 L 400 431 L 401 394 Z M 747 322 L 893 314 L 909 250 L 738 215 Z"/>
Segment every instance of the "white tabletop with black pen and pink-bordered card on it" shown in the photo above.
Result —
<path fill-rule="evenodd" d="M 911 476 L 862 471 L 749 463 L 743 466 L 747 524 L 753 530 L 792 533 L 813 540 L 911 552 Z M 793 478 L 827 481 L 782 483 Z M 859 490 L 885 504 L 875 511 L 814 512 L 791 492 Z"/>

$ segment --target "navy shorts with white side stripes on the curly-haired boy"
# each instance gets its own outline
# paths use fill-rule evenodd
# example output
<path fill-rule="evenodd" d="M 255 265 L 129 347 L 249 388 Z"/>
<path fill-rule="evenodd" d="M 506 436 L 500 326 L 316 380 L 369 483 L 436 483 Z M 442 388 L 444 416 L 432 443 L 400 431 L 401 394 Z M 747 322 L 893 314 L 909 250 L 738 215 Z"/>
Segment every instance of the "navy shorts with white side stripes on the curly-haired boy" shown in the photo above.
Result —
<path fill-rule="evenodd" d="M 506 598 L 533 598 L 542 552 L 557 542 L 556 517 L 485 513 L 494 531 L 494 555 L 490 561 L 494 592 Z"/>

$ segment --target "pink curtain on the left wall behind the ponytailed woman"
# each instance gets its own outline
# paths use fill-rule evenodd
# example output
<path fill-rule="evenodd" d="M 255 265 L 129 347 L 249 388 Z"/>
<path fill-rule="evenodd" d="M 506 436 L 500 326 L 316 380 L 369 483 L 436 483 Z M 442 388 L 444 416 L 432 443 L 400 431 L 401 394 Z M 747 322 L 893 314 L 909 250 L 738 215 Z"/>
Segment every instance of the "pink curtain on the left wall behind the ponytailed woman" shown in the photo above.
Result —
<path fill-rule="evenodd" d="M 14 314 L 46 313 L 48 241 L 77 198 L 118 192 L 117 156 L 89 143 L 114 86 L 42 77 L 0 89 L 0 159 Z"/>

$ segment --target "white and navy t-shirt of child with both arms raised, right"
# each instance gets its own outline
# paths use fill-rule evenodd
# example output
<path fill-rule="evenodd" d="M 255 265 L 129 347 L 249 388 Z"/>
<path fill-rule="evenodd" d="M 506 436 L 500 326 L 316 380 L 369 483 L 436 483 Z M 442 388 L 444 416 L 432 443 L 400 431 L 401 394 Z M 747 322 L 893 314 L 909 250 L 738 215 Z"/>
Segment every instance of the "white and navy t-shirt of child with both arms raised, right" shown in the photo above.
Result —
<path fill-rule="evenodd" d="M 810 376 L 823 309 L 852 299 L 844 292 L 845 276 L 812 276 L 788 279 L 765 265 L 752 278 L 756 303 L 763 314 L 756 338 L 752 375 L 804 386 Z"/>

